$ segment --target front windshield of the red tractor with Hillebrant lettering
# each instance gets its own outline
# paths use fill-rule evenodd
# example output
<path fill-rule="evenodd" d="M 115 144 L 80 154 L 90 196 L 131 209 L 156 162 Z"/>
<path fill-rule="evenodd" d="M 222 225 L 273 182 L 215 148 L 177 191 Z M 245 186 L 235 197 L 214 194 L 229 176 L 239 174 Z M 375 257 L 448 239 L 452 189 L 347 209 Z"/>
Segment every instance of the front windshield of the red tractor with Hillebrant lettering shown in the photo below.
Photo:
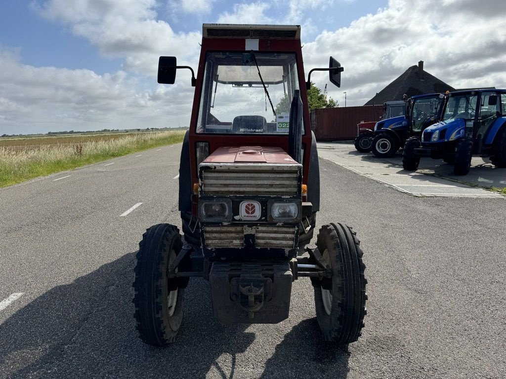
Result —
<path fill-rule="evenodd" d="M 207 53 L 196 131 L 288 134 L 296 89 L 293 53 Z"/>

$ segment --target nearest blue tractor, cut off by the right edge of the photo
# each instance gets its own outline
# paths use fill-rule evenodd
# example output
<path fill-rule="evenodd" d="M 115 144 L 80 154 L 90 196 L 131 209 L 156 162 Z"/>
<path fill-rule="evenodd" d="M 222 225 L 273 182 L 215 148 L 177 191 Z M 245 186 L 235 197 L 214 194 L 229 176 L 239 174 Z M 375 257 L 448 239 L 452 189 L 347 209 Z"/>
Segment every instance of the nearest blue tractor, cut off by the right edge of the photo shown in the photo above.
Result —
<path fill-rule="evenodd" d="M 506 167 L 506 89 L 455 91 L 448 95 L 442 120 L 406 141 L 402 166 L 414 171 L 420 157 L 453 163 L 455 175 L 466 175 L 473 154 Z"/>

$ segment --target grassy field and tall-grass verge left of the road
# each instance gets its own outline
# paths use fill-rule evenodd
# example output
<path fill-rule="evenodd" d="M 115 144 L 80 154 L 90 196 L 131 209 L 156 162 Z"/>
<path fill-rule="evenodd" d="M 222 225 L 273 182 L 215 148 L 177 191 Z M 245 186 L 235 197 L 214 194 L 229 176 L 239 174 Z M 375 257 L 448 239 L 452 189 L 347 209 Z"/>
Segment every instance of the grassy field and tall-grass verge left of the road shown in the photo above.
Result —
<path fill-rule="evenodd" d="M 0 187 L 179 143 L 185 131 L 0 138 Z"/>

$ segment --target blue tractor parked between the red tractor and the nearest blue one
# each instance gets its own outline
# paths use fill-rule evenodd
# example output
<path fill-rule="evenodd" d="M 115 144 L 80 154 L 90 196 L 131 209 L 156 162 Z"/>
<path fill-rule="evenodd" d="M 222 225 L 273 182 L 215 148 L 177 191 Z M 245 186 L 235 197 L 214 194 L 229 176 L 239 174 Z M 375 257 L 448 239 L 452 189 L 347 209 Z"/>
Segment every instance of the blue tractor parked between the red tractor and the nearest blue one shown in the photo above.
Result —
<path fill-rule="evenodd" d="M 378 158 L 389 158 L 404 146 L 410 136 L 421 132 L 441 117 L 445 96 L 431 93 L 413 96 L 404 107 L 405 115 L 381 120 L 374 125 L 372 153 Z"/>

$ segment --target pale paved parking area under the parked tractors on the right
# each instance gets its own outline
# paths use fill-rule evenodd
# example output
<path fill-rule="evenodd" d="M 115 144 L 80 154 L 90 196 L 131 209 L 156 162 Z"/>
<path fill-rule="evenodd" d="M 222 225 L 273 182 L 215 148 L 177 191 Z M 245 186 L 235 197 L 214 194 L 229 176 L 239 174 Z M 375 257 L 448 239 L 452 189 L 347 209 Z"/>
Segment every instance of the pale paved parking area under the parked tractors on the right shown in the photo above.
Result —
<path fill-rule="evenodd" d="M 318 143 L 318 154 L 360 175 L 383 182 L 398 191 L 414 196 L 503 198 L 480 187 L 506 187 L 506 169 L 495 168 L 488 160 L 473 158 L 471 172 L 453 174 L 453 165 L 443 160 L 421 159 L 415 172 L 402 168 L 402 154 L 376 158 L 360 153 L 352 143 Z"/>

